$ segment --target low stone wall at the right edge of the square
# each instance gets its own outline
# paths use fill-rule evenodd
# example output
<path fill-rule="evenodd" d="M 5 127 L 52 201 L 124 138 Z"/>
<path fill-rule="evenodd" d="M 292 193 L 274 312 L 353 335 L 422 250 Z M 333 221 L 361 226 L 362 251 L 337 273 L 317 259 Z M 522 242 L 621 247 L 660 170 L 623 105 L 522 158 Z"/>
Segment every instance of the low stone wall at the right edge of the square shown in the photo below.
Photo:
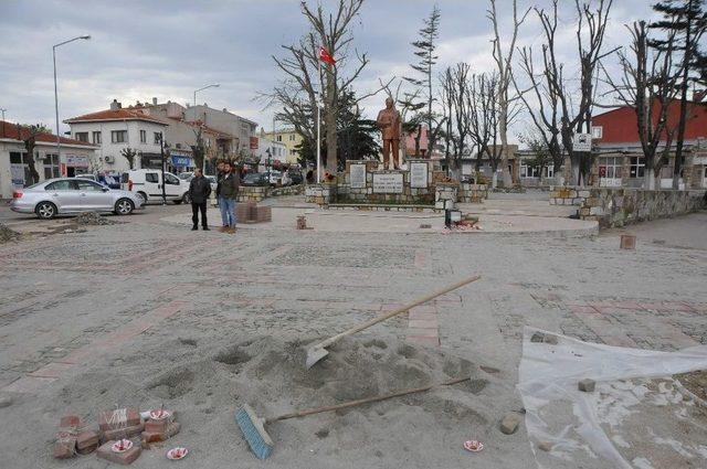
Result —
<path fill-rule="evenodd" d="M 579 217 L 595 220 L 601 227 L 669 218 L 707 209 L 707 191 L 705 190 L 646 191 L 629 188 L 563 188 L 562 191 L 567 191 L 562 192 L 567 196 L 559 199 L 566 201 L 564 205 L 579 205 Z M 556 191 L 553 190 L 553 192 Z M 550 201 L 552 203 L 552 199 Z"/>

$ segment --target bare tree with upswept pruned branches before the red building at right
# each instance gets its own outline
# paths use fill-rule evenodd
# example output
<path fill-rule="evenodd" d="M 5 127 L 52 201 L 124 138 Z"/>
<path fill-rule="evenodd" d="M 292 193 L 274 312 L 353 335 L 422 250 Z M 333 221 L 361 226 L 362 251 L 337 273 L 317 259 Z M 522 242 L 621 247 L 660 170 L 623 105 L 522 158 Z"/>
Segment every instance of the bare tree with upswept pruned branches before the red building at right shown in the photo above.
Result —
<path fill-rule="evenodd" d="M 668 108 L 677 96 L 679 75 L 673 72 L 672 39 L 668 38 L 663 47 L 651 47 L 645 21 L 634 22 L 626 28 L 632 38 L 631 53 L 619 52 L 621 75 L 614 79 L 604 70 L 605 83 L 610 86 L 610 93 L 636 114 L 639 139 L 645 159 L 644 186 L 653 190 L 664 162 L 659 158 L 662 153 L 658 153 L 658 146 L 666 138 L 666 147 L 669 148 L 675 135 L 675 129 L 668 127 Z"/>

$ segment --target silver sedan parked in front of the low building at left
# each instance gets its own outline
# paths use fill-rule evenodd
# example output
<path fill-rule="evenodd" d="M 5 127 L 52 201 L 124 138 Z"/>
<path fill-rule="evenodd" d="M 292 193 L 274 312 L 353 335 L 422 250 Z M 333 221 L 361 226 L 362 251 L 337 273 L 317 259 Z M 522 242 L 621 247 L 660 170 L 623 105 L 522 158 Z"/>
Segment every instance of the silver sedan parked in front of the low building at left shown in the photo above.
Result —
<path fill-rule="evenodd" d="M 85 178 L 57 178 L 15 190 L 10 209 L 50 220 L 87 211 L 129 215 L 143 204 L 143 199 L 133 192 L 109 189 Z"/>

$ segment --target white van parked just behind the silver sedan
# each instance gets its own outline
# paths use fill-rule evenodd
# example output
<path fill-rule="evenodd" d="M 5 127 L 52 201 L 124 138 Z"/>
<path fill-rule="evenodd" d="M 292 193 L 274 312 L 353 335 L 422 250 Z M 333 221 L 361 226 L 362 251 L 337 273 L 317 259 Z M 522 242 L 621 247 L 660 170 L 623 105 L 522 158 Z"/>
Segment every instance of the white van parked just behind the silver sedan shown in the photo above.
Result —
<path fill-rule="evenodd" d="M 162 171 L 158 169 L 135 169 L 122 174 L 126 191 L 135 192 L 146 203 L 162 201 Z M 165 172 L 165 199 L 175 203 L 189 203 L 189 182 L 171 172 Z"/>

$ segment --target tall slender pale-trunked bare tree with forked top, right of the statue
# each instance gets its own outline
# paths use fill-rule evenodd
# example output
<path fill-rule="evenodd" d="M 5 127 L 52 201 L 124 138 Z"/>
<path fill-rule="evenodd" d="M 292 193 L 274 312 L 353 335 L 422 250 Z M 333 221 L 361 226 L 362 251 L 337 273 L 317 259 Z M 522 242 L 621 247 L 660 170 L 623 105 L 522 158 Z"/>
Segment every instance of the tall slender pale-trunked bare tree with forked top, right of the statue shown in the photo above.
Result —
<path fill-rule="evenodd" d="M 508 50 L 504 51 L 502 35 L 498 29 L 498 14 L 496 13 L 496 0 L 489 0 L 490 8 L 486 12 L 486 18 L 490 20 L 494 28 L 493 56 L 498 71 L 498 132 L 500 136 L 500 146 L 503 154 L 503 175 L 504 185 L 509 188 L 513 185 L 513 177 L 508 170 L 508 126 L 510 125 L 511 110 L 510 106 L 518 96 L 510 96 L 509 88 L 513 82 L 513 54 L 516 50 L 516 40 L 518 38 L 518 29 L 528 17 L 530 9 L 518 17 L 517 0 L 513 0 L 513 31 L 510 33 L 510 43 Z"/>

